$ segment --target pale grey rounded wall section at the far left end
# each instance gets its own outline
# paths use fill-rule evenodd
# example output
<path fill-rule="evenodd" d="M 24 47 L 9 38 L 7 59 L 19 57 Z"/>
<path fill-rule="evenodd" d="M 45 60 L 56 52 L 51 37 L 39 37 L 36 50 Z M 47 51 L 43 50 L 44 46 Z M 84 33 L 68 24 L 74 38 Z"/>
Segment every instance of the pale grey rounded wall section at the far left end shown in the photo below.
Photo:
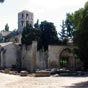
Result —
<path fill-rule="evenodd" d="M 17 49 L 14 44 L 2 47 L 1 51 L 1 68 L 12 68 L 16 65 Z"/>

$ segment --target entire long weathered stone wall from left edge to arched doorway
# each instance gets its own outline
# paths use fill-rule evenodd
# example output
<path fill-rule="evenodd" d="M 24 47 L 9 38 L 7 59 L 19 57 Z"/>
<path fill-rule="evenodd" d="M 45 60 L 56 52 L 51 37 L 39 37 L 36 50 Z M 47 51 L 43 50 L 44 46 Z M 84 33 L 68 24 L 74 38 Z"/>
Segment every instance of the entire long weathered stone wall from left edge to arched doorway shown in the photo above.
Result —
<path fill-rule="evenodd" d="M 0 67 L 12 68 L 15 65 L 18 69 L 26 69 L 30 72 L 59 68 L 61 52 L 66 48 L 72 51 L 72 47 L 50 45 L 46 52 L 43 50 L 37 51 L 36 41 L 33 41 L 29 46 L 16 44 L 0 46 Z M 75 60 L 72 53 L 69 54 L 69 62 L 69 66 L 74 67 Z"/>

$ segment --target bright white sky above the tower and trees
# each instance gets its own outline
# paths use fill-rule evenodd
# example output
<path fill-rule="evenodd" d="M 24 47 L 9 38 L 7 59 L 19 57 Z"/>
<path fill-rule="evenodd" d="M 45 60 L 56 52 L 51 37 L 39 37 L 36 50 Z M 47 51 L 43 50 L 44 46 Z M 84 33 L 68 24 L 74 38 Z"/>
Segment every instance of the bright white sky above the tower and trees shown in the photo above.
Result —
<path fill-rule="evenodd" d="M 87 0 L 5 0 L 0 4 L 0 31 L 8 23 L 10 31 L 18 28 L 18 12 L 28 10 L 34 13 L 34 23 L 47 20 L 61 30 L 66 13 L 84 7 Z"/>

